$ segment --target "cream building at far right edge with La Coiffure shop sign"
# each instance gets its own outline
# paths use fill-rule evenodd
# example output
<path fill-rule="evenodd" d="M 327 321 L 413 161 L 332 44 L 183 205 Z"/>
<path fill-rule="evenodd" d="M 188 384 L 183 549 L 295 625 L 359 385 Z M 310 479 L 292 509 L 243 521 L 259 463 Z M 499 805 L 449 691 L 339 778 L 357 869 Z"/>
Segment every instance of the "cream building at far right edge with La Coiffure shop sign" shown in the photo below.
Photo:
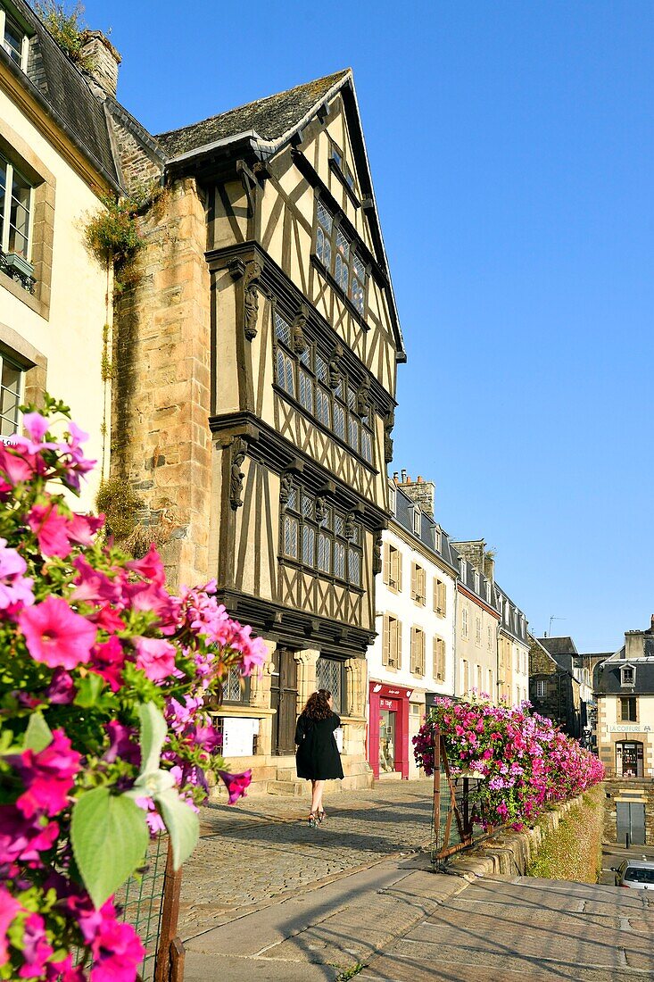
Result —
<path fill-rule="evenodd" d="M 597 669 L 597 752 L 609 777 L 654 778 L 654 617 Z"/>

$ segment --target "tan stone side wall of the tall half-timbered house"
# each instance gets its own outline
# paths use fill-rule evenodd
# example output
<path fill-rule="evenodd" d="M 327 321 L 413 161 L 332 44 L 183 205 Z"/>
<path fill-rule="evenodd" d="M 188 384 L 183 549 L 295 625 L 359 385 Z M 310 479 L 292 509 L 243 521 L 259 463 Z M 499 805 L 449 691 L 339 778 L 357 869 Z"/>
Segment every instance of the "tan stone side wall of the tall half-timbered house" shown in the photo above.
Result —
<path fill-rule="evenodd" d="M 175 589 L 209 578 L 210 289 L 194 181 L 166 191 L 142 233 L 136 284 L 116 308 L 111 472 L 141 500 Z"/>

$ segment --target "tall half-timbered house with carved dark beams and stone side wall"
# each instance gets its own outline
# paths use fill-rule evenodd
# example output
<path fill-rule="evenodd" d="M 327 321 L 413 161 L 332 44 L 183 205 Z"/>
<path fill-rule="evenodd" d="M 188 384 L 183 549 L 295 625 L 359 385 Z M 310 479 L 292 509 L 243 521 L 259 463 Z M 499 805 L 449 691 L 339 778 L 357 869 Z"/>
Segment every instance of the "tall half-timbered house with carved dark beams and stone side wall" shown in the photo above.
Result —
<path fill-rule="evenodd" d="M 115 314 L 113 472 L 171 584 L 216 577 L 268 643 L 262 678 L 226 687 L 232 764 L 294 790 L 296 717 L 326 686 L 346 784 L 365 785 L 405 354 L 352 73 L 159 136 L 105 108 L 126 184 L 165 186 Z"/>

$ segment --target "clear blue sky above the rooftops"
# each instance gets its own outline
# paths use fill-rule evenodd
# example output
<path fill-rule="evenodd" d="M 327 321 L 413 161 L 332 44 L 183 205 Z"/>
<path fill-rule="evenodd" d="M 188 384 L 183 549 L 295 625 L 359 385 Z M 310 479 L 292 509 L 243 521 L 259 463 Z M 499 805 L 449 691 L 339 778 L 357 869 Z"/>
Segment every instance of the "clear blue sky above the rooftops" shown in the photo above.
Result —
<path fill-rule="evenodd" d="M 394 469 L 532 630 L 654 612 L 654 5 L 88 0 L 151 132 L 352 66 L 409 361 Z"/>

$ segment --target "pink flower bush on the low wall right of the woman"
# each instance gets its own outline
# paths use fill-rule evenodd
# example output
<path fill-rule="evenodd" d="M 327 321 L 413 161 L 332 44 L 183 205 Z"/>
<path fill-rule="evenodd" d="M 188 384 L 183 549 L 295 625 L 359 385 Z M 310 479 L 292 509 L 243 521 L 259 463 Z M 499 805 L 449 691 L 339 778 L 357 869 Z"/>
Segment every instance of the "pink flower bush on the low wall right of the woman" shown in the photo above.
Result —
<path fill-rule="evenodd" d="M 529 709 L 528 702 L 509 707 L 440 698 L 413 737 L 415 761 L 425 774 L 433 773 L 438 727 L 453 775 L 480 775 L 472 817 L 484 828 L 522 828 L 546 805 L 575 797 L 604 777 L 597 757 Z"/>

